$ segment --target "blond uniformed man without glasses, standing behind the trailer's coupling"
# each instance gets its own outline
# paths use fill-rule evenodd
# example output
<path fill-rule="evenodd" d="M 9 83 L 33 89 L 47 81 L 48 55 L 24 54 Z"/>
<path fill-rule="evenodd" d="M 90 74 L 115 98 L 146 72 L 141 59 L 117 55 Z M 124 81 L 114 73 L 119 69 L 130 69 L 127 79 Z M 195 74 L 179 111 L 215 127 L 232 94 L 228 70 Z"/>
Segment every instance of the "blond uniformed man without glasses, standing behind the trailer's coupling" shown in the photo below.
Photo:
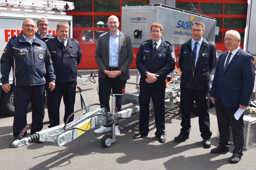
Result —
<path fill-rule="evenodd" d="M 55 90 L 53 92 L 46 90 L 49 128 L 59 125 L 59 107 L 62 96 L 65 105 L 64 122 L 74 112 L 77 65 L 80 63 L 82 52 L 79 43 L 75 39 L 69 39 L 68 35 L 69 24 L 59 22 L 57 37 L 46 40 L 56 74 Z M 70 117 L 68 123 L 73 120 L 74 115 Z"/>

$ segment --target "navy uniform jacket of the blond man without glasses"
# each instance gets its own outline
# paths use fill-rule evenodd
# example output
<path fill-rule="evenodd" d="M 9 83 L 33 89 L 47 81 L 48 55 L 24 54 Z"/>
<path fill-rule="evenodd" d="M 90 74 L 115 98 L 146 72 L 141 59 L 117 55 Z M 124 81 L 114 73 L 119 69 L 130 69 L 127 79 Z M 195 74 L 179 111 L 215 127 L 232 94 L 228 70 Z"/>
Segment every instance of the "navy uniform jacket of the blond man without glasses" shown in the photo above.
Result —
<path fill-rule="evenodd" d="M 53 60 L 56 82 L 76 81 L 77 65 L 80 63 L 82 51 L 75 39 L 69 39 L 63 49 L 62 43 L 56 38 L 46 40 L 46 45 Z"/>

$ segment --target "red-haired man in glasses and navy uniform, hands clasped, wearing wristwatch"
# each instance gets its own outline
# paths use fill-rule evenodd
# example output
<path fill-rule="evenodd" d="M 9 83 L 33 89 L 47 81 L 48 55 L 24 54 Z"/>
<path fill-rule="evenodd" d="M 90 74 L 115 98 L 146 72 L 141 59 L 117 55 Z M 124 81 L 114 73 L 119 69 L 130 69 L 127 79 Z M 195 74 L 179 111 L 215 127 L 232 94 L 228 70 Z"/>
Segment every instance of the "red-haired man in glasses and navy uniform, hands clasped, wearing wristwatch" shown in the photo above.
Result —
<path fill-rule="evenodd" d="M 160 23 L 153 23 L 150 27 L 150 40 L 142 42 L 136 56 L 136 65 L 140 72 L 139 81 L 139 133 L 133 138 L 147 136 L 149 132 L 149 103 L 152 98 L 156 137 L 160 143 L 165 142 L 164 95 L 166 77 L 175 68 L 175 54 L 173 46 L 163 41 L 161 35 L 163 27 Z"/>

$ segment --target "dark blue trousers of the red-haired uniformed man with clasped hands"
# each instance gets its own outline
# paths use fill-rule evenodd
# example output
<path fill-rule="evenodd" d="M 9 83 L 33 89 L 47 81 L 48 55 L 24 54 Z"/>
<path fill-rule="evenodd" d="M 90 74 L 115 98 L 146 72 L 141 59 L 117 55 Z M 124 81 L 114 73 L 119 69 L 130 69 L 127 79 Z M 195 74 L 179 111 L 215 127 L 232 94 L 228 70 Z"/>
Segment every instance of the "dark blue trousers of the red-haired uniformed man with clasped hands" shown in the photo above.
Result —
<path fill-rule="evenodd" d="M 165 88 L 150 88 L 140 86 L 139 92 L 139 132 L 143 135 L 149 132 L 149 103 L 152 98 L 156 129 L 155 135 L 157 137 L 165 133 L 165 120 L 164 120 L 164 94 Z"/>

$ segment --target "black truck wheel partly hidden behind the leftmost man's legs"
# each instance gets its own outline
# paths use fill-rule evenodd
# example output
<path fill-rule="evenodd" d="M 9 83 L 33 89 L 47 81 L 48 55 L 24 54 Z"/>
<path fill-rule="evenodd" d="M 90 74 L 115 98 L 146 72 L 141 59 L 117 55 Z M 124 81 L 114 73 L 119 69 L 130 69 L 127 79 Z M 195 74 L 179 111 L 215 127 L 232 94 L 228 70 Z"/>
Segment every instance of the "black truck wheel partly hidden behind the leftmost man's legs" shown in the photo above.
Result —
<path fill-rule="evenodd" d="M 11 87 L 9 93 L 2 91 L 1 94 L 1 109 L 4 115 L 14 116 L 14 88 Z M 29 103 L 28 110 L 31 109 L 31 103 Z"/>

